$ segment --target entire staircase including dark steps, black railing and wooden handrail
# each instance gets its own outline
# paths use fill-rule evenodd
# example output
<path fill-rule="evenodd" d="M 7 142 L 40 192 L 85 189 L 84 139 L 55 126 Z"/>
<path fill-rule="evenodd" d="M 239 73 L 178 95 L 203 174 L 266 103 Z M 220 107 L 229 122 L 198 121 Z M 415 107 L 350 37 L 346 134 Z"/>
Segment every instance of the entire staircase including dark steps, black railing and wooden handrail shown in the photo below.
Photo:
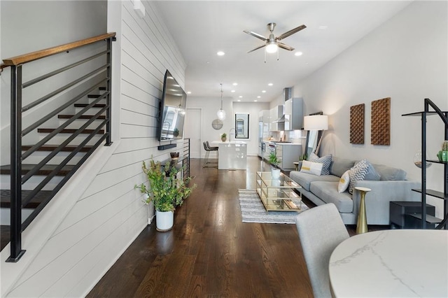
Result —
<path fill-rule="evenodd" d="M 10 242 L 6 262 L 20 260 L 22 232 L 94 150 L 112 143 L 114 40 L 115 33 L 102 34 L 3 59 L 1 69 L 10 67 L 11 76 L 10 164 L 0 166 L 1 248 Z M 53 55 L 64 55 L 66 64 Z M 36 59 L 48 60 L 47 73 L 42 74 L 43 64 L 33 66 Z M 32 79 L 22 82 L 24 77 Z M 4 237 L 7 225 L 10 239 Z"/>

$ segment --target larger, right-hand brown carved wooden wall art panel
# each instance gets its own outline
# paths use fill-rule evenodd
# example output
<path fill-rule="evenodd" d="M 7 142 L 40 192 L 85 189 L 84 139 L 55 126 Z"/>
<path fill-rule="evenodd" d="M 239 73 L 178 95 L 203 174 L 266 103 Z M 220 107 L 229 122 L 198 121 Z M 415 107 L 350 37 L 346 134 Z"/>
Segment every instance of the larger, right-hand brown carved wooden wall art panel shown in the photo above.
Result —
<path fill-rule="evenodd" d="M 391 145 L 391 98 L 372 101 L 372 145 Z"/>

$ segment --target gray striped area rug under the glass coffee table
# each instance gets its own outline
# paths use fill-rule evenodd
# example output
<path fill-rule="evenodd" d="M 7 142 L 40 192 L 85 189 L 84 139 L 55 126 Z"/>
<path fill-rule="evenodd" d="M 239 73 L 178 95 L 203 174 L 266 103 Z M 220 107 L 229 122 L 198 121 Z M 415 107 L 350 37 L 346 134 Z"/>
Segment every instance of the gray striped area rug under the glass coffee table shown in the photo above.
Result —
<path fill-rule="evenodd" d="M 266 211 L 255 190 L 238 190 L 239 206 L 241 207 L 241 218 L 243 222 L 261 223 L 287 223 L 295 224 L 297 211 Z M 294 201 L 300 204 L 299 201 Z M 308 206 L 301 204 L 302 211 L 308 210 Z"/>

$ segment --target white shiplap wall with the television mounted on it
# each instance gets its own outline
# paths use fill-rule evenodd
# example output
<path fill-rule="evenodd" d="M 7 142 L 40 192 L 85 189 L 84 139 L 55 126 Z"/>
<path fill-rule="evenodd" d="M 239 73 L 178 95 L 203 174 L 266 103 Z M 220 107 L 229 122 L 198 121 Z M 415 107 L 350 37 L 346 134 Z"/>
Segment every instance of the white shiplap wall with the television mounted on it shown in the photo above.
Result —
<path fill-rule="evenodd" d="M 121 15 L 113 25 L 118 29 L 108 28 L 120 39 L 113 48 L 121 61 L 113 68 L 120 77 L 113 82 L 120 84 L 120 94 L 113 94 L 113 105 L 120 108 L 114 120 L 120 121 L 115 125 L 120 140 L 114 140 L 113 154 L 97 157 L 108 160 L 94 179 L 85 181 L 84 190 L 77 190 L 80 198 L 8 292 L 10 297 L 86 295 L 146 226 L 146 206 L 134 185 L 146 180 L 142 160 L 168 157 L 169 150 L 158 151 L 155 137 L 162 81 L 169 69 L 184 85 L 186 63 L 153 3 L 144 1 L 144 18 L 134 12 L 132 1 L 113 6 L 119 10 L 113 15 Z"/>

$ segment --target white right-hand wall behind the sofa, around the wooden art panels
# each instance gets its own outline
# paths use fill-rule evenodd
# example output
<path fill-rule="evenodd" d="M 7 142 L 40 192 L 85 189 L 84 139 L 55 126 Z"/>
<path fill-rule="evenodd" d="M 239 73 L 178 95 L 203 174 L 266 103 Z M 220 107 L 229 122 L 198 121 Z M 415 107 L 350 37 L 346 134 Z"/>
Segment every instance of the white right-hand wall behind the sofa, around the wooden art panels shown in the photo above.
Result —
<path fill-rule="evenodd" d="M 303 97 L 307 115 L 323 111 L 330 129 L 322 142 L 324 153 L 386 163 L 405 169 L 409 180 L 421 180 L 413 164 L 421 148 L 421 122 L 404 113 L 423 111 L 430 98 L 448 110 L 447 2 L 414 1 L 391 20 L 362 38 L 294 87 Z M 371 102 L 391 97 L 391 145 L 370 144 Z M 349 142 L 350 106 L 365 104 L 365 144 Z M 442 121 L 428 120 L 428 157 L 436 158 L 444 139 Z M 443 169 L 427 171 L 428 188 L 443 191 Z M 442 200 L 428 197 L 442 216 Z M 442 216 L 443 217 L 443 216 Z"/>

